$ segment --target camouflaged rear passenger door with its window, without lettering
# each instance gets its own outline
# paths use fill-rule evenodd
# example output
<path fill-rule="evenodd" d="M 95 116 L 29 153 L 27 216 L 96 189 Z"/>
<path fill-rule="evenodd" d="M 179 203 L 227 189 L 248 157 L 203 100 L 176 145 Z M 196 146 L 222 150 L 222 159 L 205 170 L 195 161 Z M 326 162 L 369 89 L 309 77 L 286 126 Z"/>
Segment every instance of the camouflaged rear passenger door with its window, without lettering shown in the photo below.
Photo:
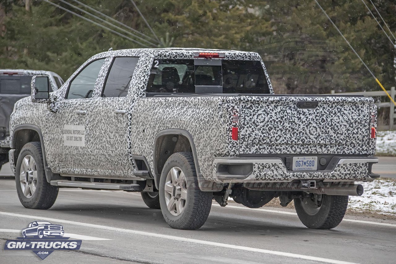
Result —
<path fill-rule="evenodd" d="M 94 99 L 90 121 L 95 124 L 91 133 L 95 144 L 95 159 L 90 169 L 127 171 L 128 157 L 128 94 L 138 57 L 115 57 L 110 66 L 101 96 Z"/>

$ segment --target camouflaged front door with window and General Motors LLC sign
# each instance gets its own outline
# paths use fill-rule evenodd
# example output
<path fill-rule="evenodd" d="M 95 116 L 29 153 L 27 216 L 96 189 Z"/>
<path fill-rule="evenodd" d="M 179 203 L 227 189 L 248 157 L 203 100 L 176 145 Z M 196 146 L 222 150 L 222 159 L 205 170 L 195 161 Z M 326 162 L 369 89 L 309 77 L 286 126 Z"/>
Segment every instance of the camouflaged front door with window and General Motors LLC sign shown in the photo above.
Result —
<path fill-rule="evenodd" d="M 105 59 L 92 61 L 70 81 L 65 99 L 57 102 L 58 111 L 48 112 L 48 163 L 60 173 L 75 174 L 88 169 L 95 159 L 91 152 L 91 126 L 87 125 L 92 94 L 99 85 L 99 72 Z M 53 163 L 53 165 L 51 165 Z M 61 170 L 59 170 L 61 168 Z"/>

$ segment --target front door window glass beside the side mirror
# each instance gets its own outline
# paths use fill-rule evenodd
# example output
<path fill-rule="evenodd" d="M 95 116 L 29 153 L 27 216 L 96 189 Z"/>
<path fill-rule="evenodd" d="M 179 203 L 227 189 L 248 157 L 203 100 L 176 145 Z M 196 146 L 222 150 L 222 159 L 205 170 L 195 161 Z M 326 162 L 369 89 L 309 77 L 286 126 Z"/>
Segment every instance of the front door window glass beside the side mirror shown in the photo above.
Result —
<path fill-rule="evenodd" d="M 88 64 L 79 74 L 77 74 L 77 76 L 70 83 L 66 99 L 92 97 L 96 79 L 98 78 L 99 71 L 104 62 L 105 59 L 93 61 Z"/>

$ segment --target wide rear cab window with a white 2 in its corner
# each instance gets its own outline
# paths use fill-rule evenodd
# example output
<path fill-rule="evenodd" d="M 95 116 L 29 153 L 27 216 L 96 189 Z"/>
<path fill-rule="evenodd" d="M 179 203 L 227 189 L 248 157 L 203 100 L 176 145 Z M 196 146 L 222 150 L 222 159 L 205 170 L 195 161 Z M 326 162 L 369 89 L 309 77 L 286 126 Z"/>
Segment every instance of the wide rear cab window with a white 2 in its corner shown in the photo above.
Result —
<path fill-rule="evenodd" d="M 260 61 L 154 59 L 147 93 L 270 93 Z"/>

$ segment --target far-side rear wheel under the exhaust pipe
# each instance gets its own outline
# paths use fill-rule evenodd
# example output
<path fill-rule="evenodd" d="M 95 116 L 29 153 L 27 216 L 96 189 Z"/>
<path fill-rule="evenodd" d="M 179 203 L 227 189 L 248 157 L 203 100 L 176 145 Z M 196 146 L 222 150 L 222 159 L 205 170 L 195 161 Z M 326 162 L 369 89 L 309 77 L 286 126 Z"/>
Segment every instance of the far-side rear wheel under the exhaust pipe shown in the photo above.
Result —
<path fill-rule="evenodd" d="M 301 222 L 308 228 L 331 229 L 341 223 L 348 207 L 348 196 L 308 194 L 294 199 Z"/>

